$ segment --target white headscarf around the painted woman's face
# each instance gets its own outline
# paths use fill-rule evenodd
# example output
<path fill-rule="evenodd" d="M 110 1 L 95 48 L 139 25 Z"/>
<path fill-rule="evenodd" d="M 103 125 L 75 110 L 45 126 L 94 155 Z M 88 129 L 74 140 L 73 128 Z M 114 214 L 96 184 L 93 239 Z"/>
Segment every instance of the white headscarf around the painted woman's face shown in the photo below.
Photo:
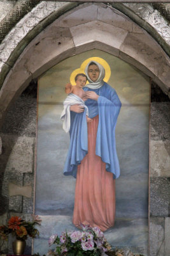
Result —
<path fill-rule="evenodd" d="M 99 72 L 100 73 L 99 73 L 99 77 L 98 77 L 96 82 L 93 82 L 90 79 L 89 74 L 88 74 L 88 68 L 89 68 L 90 63 L 92 63 L 92 62 L 94 62 L 97 65 L 97 67 L 99 67 Z M 94 60 L 90 61 L 87 64 L 87 66 L 85 67 L 85 74 L 86 74 L 87 79 L 89 81 L 89 84 L 87 84 L 86 87 L 88 87 L 90 89 L 98 89 L 98 88 L 101 88 L 101 86 L 103 86 L 103 84 L 104 84 L 103 79 L 104 79 L 104 76 L 105 76 L 105 70 L 104 70 L 104 67 L 100 63 L 98 63 L 97 61 L 94 61 Z"/>

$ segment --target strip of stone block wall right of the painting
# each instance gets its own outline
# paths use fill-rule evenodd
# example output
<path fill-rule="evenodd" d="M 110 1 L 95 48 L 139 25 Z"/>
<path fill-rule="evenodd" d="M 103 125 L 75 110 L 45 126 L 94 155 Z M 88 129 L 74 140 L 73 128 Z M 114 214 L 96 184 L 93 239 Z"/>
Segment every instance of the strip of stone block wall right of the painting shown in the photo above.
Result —
<path fill-rule="evenodd" d="M 155 92 L 155 85 L 153 92 Z M 150 256 L 170 255 L 170 102 L 152 95 L 150 118 Z"/>

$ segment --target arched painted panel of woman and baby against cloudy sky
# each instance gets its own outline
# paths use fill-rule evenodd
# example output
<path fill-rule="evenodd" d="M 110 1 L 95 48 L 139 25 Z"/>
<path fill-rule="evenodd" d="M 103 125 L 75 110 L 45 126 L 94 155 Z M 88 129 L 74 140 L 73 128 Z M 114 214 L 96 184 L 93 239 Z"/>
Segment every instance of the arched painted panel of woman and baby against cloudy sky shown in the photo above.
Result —
<path fill-rule="evenodd" d="M 149 104 L 149 77 L 99 50 L 39 77 L 35 211 L 43 221 L 34 252 L 46 253 L 48 237 L 85 223 L 113 247 L 147 255 Z"/>

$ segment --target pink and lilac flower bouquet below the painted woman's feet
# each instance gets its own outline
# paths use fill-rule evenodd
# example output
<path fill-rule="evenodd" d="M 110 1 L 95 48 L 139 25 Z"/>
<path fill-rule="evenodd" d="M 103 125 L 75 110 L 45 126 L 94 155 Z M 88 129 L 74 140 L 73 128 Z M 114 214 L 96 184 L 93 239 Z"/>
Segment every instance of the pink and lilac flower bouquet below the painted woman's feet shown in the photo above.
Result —
<path fill-rule="evenodd" d="M 81 225 L 82 231 L 66 231 L 60 236 L 52 235 L 48 241 L 49 246 L 57 244 L 55 252 L 48 255 L 55 256 L 101 256 L 111 250 L 103 232 L 97 227 Z"/>

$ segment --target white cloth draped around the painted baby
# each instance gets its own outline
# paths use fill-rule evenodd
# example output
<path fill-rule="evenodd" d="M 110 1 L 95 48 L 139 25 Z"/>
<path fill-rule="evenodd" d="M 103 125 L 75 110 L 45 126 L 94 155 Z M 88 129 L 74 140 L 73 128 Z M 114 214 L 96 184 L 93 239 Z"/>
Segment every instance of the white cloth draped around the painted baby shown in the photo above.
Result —
<path fill-rule="evenodd" d="M 70 129 L 70 107 L 76 104 L 83 106 L 85 109 L 87 109 L 86 115 L 89 116 L 89 109 L 85 105 L 84 100 L 82 100 L 74 93 L 69 93 L 66 100 L 64 100 L 64 109 L 60 116 L 61 120 L 63 121 L 62 128 L 65 132 L 69 132 Z"/>

